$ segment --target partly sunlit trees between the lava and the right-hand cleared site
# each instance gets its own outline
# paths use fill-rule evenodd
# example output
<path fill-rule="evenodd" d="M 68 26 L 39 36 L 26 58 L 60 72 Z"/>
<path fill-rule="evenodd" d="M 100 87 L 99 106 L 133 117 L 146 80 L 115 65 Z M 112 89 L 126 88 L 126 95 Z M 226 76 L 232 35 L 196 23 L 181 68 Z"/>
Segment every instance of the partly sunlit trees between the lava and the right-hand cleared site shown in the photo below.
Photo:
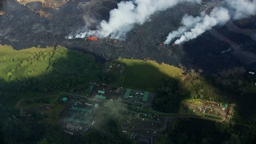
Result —
<path fill-rule="evenodd" d="M 249 89 L 256 77 L 245 75 L 245 69 L 234 67 L 219 70 L 216 74 L 202 75 L 190 70 L 181 79 L 170 78 L 157 89 L 153 108 L 165 113 L 179 113 L 182 100 L 201 105 L 202 99 L 222 103 L 235 103 L 232 121 L 243 124 L 256 124 L 256 93 Z"/>

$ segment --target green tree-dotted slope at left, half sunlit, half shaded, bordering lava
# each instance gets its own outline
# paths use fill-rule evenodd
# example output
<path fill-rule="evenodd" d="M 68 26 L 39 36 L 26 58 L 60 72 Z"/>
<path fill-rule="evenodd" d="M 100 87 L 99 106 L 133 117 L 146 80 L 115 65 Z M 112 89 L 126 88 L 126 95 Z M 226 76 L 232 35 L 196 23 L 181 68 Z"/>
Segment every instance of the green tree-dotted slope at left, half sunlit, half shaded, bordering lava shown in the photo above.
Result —
<path fill-rule="evenodd" d="M 5 45 L 0 46 L 0 51 L 2 103 L 17 102 L 13 100 L 28 98 L 30 93 L 36 92 L 35 97 L 85 83 L 95 63 L 90 56 L 61 46 L 16 51 Z"/>

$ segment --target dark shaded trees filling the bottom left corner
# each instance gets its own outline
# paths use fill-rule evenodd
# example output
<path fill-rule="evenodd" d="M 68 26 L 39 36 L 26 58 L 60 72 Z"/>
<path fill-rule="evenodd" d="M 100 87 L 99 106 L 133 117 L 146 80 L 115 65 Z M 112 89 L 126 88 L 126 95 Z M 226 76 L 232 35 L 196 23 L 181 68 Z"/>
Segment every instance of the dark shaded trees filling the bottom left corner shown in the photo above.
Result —
<path fill-rule="evenodd" d="M 68 135 L 60 131 L 58 125 L 46 123 L 46 115 L 4 107 L 0 110 L 2 143 L 67 143 L 65 140 Z"/>

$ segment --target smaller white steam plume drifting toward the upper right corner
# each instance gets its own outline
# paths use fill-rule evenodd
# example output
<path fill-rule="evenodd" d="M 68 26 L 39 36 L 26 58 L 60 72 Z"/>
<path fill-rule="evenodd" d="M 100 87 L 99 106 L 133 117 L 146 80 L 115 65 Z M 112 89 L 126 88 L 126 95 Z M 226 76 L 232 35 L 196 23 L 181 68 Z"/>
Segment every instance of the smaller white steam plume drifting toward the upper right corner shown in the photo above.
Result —
<path fill-rule="evenodd" d="M 175 37 L 180 37 L 174 42 L 180 44 L 196 38 L 216 25 L 224 25 L 230 18 L 237 20 L 256 14 L 255 0 L 225 0 L 225 4 L 227 8 L 215 7 L 210 15 L 202 12 L 200 18 L 185 15 L 181 22 L 183 26 L 172 31 L 164 43 L 169 44 Z M 186 25 L 184 21 L 190 21 L 191 25 Z"/>

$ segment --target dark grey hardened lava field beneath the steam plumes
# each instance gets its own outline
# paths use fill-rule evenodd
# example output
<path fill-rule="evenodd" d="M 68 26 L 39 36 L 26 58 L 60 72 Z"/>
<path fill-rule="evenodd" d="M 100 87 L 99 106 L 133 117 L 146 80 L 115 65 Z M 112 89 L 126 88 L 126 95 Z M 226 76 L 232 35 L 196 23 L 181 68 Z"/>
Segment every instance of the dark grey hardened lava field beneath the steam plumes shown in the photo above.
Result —
<path fill-rule="evenodd" d="M 125 41 L 113 43 L 113 40 L 104 38 L 99 41 L 85 41 L 85 39 L 66 39 L 70 33 L 81 29 L 85 23 L 95 28 L 101 20 L 108 20 L 109 11 L 117 7 L 117 0 L 68 2 L 56 9 L 44 9 L 41 3 L 34 2 L 23 6 L 13 0 L 6 1 L 1 8 L 6 13 L 0 15 L 0 44 L 7 44 L 20 50 L 31 46 L 62 45 L 69 49 L 90 53 L 99 61 L 122 58 L 143 59 L 150 58 L 157 62 L 165 62 L 178 66 L 181 63 L 187 69 L 203 69 L 212 73 L 217 69 L 241 66 L 232 53 L 223 53 L 230 45 L 213 37 L 209 32 L 204 33 L 192 41 L 181 45 L 157 46 L 165 41 L 165 37 L 180 26 L 184 14 L 198 15 L 206 6 L 191 3 L 182 3 L 164 12 L 152 15 L 150 21 L 143 25 L 135 25 L 126 35 Z M 207 3 L 204 3 L 207 4 Z M 29 8 L 28 8 L 29 7 Z M 53 15 L 53 19 L 42 17 L 31 9 L 42 9 Z M 95 21 L 96 20 L 96 21 Z M 256 28 L 255 23 L 247 22 L 241 28 Z M 248 25 L 248 26 L 246 26 Z M 228 37 L 243 49 L 256 53 L 255 42 L 248 36 L 236 34 L 226 27 L 216 28 L 219 33 Z M 254 48 L 252 48 L 254 47 Z"/>

